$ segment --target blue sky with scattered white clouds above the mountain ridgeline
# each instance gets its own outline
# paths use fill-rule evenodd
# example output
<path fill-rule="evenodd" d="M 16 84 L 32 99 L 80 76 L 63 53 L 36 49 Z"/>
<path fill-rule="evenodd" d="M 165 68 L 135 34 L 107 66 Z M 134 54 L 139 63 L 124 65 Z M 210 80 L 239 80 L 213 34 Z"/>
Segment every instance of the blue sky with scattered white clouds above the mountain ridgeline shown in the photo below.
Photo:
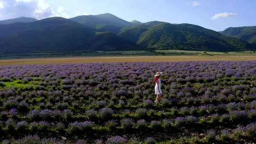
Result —
<path fill-rule="evenodd" d="M 0 0 L 0 20 L 102 13 L 127 21 L 190 23 L 215 31 L 256 26 L 256 0 Z"/>

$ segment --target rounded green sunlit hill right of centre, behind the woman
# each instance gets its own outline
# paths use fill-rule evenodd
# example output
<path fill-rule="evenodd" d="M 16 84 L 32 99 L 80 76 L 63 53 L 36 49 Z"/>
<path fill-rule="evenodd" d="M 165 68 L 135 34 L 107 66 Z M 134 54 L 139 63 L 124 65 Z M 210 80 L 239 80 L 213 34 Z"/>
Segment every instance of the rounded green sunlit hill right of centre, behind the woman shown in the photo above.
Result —
<path fill-rule="evenodd" d="M 251 48 L 250 44 L 238 38 L 191 24 L 153 21 L 143 26 L 124 28 L 119 36 L 151 49 L 240 51 Z"/>

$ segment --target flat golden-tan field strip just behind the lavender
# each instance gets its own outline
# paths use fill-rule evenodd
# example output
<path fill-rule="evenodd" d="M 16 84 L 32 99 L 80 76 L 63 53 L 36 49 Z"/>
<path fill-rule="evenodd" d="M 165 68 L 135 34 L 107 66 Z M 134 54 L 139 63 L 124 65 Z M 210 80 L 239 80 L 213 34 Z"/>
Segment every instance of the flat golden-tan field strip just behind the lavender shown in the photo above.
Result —
<path fill-rule="evenodd" d="M 256 55 L 96 56 L 0 60 L 0 65 L 104 62 L 253 61 Z"/>

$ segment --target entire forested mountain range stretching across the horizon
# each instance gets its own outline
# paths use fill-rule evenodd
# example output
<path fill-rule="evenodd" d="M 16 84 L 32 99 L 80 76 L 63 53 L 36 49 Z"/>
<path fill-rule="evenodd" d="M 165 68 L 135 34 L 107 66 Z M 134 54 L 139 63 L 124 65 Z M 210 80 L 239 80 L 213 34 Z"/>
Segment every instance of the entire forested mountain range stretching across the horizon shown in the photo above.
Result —
<path fill-rule="evenodd" d="M 253 29 L 253 28 L 251 28 Z M 232 32 L 231 32 L 232 31 Z M 192 24 L 161 21 L 128 22 L 112 14 L 14 18 L 0 21 L 2 53 L 87 52 L 98 50 L 183 49 L 204 51 L 255 50 L 252 38 L 238 30 L 216 32 Z M 247 33 L 247 28 L 239 33 Z M 255 35 L 254 35 L 255 36 Z"/>

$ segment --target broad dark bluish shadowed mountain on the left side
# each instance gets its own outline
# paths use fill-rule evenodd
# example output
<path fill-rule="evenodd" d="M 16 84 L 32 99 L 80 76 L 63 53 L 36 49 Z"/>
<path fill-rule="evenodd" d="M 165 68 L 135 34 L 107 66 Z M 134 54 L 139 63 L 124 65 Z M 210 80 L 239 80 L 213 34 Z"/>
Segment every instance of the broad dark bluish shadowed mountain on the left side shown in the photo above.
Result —
<path fill-rule="evenodd" d="M 115 34 L 105 33 L 99 36 L 96 32 L 97 30 L 93 27 L 60 17 L 46 18 L 31 23 L 0 25 L 0 51 L 3 53 L 42 53 L 96 50 L 95 45 L 116 50 L 136 47 L 136 44 Z M 114 45 L 115 40 L 118 42 Z"/>

